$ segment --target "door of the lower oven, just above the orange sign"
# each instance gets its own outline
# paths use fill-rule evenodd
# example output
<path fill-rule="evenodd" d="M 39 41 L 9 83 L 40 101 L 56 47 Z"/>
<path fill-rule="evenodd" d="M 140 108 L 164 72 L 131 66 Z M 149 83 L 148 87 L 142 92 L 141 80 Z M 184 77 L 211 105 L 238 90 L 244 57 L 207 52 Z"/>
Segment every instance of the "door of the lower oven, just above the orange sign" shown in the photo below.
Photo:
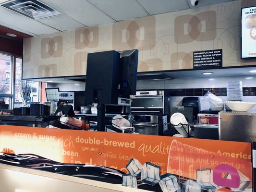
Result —
<path fill-rule="evenodd" d="M 158 124 L 155 123 L 133 123 L 134 132 L 146 135 L 158 135 Z"/>

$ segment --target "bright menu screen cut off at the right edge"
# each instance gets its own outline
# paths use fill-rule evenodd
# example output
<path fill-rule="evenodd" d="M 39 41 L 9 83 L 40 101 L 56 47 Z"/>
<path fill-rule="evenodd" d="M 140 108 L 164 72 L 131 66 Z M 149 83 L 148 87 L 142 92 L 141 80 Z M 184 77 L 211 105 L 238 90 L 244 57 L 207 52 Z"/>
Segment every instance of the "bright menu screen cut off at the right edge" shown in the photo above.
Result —
<path fill-rule="evenodd" d="M 242 8 L 241 58 L 256 58 L 256 7 Z"/>

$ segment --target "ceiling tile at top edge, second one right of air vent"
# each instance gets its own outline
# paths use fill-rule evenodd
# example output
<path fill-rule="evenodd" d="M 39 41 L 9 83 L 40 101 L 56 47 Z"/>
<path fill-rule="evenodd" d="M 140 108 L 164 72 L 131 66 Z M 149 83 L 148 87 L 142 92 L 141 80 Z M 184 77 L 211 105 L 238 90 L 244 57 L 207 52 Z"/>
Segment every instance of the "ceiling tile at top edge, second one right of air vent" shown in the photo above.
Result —
<path fill-rule="evenodd" d="M 148 16 L 135 0 L 88 0 L 116 21 Z"/>

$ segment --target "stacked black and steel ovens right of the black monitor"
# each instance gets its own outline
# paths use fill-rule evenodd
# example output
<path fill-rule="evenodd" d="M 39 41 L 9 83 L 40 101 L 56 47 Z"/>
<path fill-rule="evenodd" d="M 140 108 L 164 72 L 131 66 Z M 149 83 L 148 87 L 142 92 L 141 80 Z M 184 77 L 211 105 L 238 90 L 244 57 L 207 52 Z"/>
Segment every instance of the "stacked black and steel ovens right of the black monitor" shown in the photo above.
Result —
<path fill-rule="evenodd" d="M 135 132 L 164 135 L 170 122 L 170 96 L 162 90 L 136 91 L 130 96 Z"/>

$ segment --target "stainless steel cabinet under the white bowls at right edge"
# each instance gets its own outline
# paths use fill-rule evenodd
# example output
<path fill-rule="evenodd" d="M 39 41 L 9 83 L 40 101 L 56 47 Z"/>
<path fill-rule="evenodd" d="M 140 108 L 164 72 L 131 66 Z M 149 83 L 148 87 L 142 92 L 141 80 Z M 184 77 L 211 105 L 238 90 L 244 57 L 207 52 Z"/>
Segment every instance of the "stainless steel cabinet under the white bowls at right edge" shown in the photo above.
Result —
<path fill-rule="evenodd" d="M 256 136 L 256 113 L 219 112 L 219 139 L 250 142 Z"/>

